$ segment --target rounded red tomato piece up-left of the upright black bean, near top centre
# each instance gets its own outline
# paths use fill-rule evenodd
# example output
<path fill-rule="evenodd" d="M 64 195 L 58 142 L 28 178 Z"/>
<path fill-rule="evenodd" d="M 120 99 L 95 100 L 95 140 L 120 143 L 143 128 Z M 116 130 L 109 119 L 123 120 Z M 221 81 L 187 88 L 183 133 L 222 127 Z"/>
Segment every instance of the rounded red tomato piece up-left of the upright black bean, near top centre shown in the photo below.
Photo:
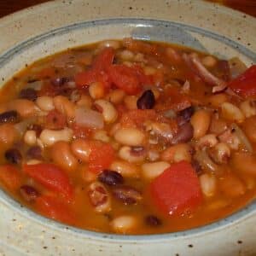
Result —
<path fill-rule="evenodd" d="M 125 90 L 129 95 L 135 95 L 141 90 L 137 72 L 125 65 L 111 65 L 108 67 L 109 79 L 119 89 Z"/>

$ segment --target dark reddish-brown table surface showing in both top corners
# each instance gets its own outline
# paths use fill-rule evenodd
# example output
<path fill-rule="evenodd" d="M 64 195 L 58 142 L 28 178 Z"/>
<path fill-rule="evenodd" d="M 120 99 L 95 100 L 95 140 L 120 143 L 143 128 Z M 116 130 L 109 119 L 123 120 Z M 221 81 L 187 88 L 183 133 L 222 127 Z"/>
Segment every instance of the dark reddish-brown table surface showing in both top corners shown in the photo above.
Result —
<path fill-rule="evenodd" d="M 34 4 L 45 3 L 49 0 L 0 0 L 0 17 L 9 15 L 17 10 L 27 8 Z M 244 13 L 256 17 L 256 0 L 207 0 L 208 2 L 220 3 L 233 9 L 241 10 Z"/>

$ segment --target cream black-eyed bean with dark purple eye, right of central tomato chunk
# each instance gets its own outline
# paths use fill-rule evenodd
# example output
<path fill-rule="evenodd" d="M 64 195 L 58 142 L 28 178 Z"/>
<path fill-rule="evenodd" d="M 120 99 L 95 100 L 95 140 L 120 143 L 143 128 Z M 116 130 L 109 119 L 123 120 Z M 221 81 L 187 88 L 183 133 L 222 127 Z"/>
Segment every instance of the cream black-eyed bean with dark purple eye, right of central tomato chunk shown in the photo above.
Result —
<path fill-rule="evenodd" d="M 119 149 L 119 158 L 122 160 L 126 160 L 131 163 L 140 163 L 146 158 L 145 150 L 141 150 L 141 152 L 137 151 L 136 149 L 132 149 L 135 147 L 128 147 L 124 146 Z M 141 148 L 141 147 L 140 147 Z"/>

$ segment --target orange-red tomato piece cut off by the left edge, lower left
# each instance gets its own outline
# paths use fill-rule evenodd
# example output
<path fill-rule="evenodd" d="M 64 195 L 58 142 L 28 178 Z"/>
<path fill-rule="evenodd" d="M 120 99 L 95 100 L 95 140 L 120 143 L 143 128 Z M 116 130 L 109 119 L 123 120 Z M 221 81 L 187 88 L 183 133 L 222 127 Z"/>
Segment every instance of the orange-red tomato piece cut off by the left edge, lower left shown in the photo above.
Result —
<path fill-rule="evenodd" d="M 15 166 L 3 165 L 0 166 L 0 181 L 11 190 L 20 188 L 21 175 Z"/>

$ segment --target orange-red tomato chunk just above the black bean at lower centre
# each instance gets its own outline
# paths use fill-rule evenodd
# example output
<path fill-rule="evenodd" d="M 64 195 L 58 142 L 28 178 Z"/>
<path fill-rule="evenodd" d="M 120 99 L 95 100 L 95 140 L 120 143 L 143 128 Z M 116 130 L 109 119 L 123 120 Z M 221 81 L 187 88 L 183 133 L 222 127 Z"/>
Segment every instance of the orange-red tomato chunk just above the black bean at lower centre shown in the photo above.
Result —
<path fill-rule="evenodd" d="M 114 151 L 107 143 L 91 142 L 89 155 L 89 170 L 91 172 L 102 172 L 108 169 L 114 159 Z"/>

